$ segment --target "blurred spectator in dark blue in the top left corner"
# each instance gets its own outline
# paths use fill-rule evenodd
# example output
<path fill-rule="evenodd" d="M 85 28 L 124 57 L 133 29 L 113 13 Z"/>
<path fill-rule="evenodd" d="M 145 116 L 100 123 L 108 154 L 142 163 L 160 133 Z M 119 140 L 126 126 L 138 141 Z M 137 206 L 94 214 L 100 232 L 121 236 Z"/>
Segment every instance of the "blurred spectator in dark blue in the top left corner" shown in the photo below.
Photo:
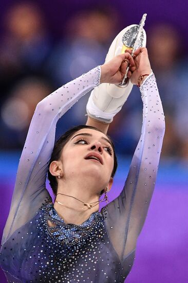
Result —
<path fill-rule="evenodd" d="M 32 2 L 12 6 L 5 15 L 0 43 L 1 102 L 19 79 L 45 75 L 50 50 L 50 36 L 39 8 Z"/>

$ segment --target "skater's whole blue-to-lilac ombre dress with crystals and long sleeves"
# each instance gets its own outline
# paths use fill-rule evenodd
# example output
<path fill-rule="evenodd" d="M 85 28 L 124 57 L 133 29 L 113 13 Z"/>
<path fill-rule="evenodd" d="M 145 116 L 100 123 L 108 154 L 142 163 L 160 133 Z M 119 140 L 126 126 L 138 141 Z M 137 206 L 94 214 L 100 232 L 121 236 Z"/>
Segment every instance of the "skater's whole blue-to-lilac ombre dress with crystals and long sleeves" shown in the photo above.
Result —
<path fill-rule="evenodd" d="M 142 133 L 119 197 L 81 225 L 66 224 L 45 187 L 58 119 L 99 83 L 98 66 L 37 104 L 2 239 L 0 262 L 8 282 L 121 283 L 133 266 L 164 135 L 154 74 L 140 87 Z"/>

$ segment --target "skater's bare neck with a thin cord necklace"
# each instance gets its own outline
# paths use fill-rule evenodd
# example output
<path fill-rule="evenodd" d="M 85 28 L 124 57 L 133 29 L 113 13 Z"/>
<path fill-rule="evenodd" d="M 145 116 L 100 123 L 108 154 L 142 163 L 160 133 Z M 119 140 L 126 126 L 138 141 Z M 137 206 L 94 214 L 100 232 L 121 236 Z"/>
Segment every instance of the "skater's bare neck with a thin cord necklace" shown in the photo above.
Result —
<path fill-rule="evenodd" d="M 81 225 L 93 212 L 99 210 L 99 203 L 97 203 L 97 201 L 99 201 L 99 193 L 95 192 L 95 188 L 92 188 L 89 185 L 87 186 L 86 182 L 83 182 L 83 180 L 80 186 L 79 182 L 76 184 L 70 184 L 72 182 L 69 182 L 69 184 L 67 184 L 67 182 L 65 183 L 63 180 L 61 181 L 61 184 L 58 186 L 58 194 L 55 199 L 54 208 L 66 224 L 72 223 Z M 63 193 L 63 195 L 61 193 Z M 87 206 L 84 206 L 79 200 L 88 204 L 96 202 L 94 205 L 97 205 L 88 209 Z M 61 202 L 65 206 L 58 202 Z M 78 208 L 78 210 L 76 208 Z"/>

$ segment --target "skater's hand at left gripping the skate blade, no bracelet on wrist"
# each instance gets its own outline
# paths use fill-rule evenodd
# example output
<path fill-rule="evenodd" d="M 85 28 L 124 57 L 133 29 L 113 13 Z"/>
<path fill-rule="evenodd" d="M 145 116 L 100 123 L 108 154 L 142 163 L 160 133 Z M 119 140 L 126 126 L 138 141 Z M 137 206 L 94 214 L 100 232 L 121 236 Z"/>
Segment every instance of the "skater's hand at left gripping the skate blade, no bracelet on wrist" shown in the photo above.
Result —
<path fill-rule="evenodd" d="M 133 70 L 135 67 L 135 62 L 133 60 L 133 57 L 131 57 L 128 52 L 120 54 L 111 59 L 109 62 L 103 64 L 101 66 L 100 83 L 120 83 L 125 76 L 127 62 Z"/>

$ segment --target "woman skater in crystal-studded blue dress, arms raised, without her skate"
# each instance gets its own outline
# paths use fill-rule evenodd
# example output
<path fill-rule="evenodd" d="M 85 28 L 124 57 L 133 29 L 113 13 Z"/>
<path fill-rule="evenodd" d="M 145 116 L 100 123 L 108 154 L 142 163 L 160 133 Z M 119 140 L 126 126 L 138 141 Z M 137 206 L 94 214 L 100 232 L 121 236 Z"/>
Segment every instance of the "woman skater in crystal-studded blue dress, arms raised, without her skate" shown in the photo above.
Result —
<path fill-rule="evenodd" d="M 87 126 L 68 131 L 54 146 L 55 125 L 93 87 L 120 83 L 127 61 L 131 83 L 141 85 L 142 132 L 122 192 L 99 211 L 99 197 L 111 188 L 117 168 L 108 124 L 91 117 L 96 109 L 90 105 Z M 0 262 L 8 282 L 124 282 L 155 186 L 163 134 L 146 48 L 134 57 L 129 51 L 114 57 L 37 104 L 2 239 Z M 47 170 L 54 204 L 45 188 Z"/>

